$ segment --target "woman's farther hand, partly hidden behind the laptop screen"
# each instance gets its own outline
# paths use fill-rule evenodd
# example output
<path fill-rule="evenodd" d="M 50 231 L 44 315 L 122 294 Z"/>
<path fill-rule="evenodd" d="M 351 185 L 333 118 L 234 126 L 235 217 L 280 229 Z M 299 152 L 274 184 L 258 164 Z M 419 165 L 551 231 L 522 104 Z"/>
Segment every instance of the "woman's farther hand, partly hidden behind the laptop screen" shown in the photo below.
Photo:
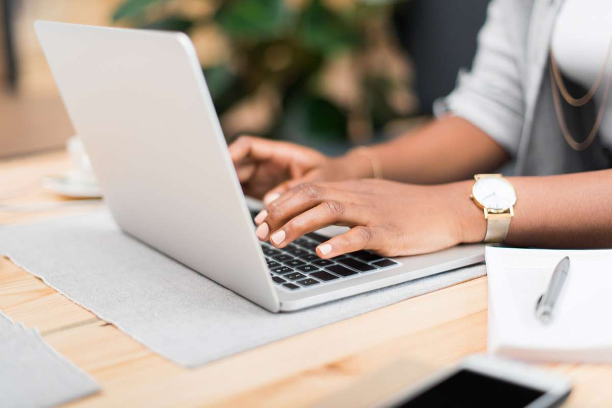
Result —
<path fill-rule="evenodd" d="M 266 204 L 300 183 L 371 176 L 367 159 L 330 158 L 312 148 L 252 136 L 236 139 L 230 156 L 244 193 Z"/>

